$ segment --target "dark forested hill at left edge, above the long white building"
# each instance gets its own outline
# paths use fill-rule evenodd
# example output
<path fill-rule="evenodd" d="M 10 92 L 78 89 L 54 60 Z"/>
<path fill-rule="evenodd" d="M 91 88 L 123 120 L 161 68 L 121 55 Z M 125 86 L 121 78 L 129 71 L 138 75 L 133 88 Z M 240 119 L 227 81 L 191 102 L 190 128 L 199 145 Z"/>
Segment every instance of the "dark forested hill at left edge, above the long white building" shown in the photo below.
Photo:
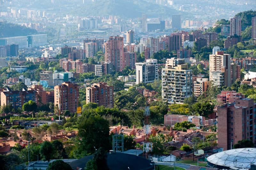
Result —
<path fill-rule="evenodd" d="M 26 36 L 35 33 L 37 33 L 35 29 L 22 27 L 18 24 L 8 23 L 6 21 L 0 22 L 0 38 Z"/>

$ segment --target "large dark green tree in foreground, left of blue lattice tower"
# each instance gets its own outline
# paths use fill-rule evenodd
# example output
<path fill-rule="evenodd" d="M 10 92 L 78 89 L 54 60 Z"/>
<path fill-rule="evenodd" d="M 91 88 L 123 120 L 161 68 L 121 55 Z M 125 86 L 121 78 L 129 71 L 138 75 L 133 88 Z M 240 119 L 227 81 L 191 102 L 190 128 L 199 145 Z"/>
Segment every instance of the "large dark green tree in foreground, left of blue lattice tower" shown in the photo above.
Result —
<path fill-rule="evenodd" d="M 111 148 L 109 123 L 100 116 L 90 116 L 88 119 L 83 116 L 78 130 L 78 135 L 82 138 L 78 143 L 78 153 L 92 154 L 95 148 L 102 147 L 105 151 Z"/>

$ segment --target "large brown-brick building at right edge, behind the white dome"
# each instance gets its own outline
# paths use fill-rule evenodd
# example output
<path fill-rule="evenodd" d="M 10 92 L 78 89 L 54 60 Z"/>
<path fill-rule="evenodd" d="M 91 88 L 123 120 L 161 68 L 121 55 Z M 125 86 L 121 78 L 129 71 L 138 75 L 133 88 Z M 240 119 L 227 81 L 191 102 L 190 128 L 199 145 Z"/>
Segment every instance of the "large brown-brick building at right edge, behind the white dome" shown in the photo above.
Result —
<path fill-rule="evenodd" d="M 224 104 L 217 111 L 217 143 L 224 150 L 231 149 L 238 141 L 256 142 L 256 104 L 253 99 L 236 99 L 233 104 Z"/>

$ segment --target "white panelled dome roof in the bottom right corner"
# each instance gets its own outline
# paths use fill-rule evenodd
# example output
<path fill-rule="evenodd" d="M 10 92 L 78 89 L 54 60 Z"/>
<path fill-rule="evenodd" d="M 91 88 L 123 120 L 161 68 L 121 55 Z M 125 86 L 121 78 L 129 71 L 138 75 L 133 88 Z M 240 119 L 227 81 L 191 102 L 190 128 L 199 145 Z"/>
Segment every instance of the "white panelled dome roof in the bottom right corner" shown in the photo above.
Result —
<path fill-rule="evenodd" d="M 240 148 L 215 153 L 207 161 L 226 167 L 250 168 L 256 162 L 256 148 Z"/>

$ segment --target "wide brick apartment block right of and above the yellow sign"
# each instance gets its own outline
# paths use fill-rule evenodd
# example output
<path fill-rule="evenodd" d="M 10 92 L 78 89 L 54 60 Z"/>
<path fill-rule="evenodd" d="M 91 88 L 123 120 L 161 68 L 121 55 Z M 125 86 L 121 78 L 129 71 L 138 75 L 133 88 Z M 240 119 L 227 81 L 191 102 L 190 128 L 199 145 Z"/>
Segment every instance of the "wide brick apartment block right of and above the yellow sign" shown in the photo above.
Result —
<path fill-rule="evenodd" d="M 97 103 L 99 106 L 114 106 L 114 88 L 107 83 L 99 82 L 86 88 L 86 104 Z"/>

